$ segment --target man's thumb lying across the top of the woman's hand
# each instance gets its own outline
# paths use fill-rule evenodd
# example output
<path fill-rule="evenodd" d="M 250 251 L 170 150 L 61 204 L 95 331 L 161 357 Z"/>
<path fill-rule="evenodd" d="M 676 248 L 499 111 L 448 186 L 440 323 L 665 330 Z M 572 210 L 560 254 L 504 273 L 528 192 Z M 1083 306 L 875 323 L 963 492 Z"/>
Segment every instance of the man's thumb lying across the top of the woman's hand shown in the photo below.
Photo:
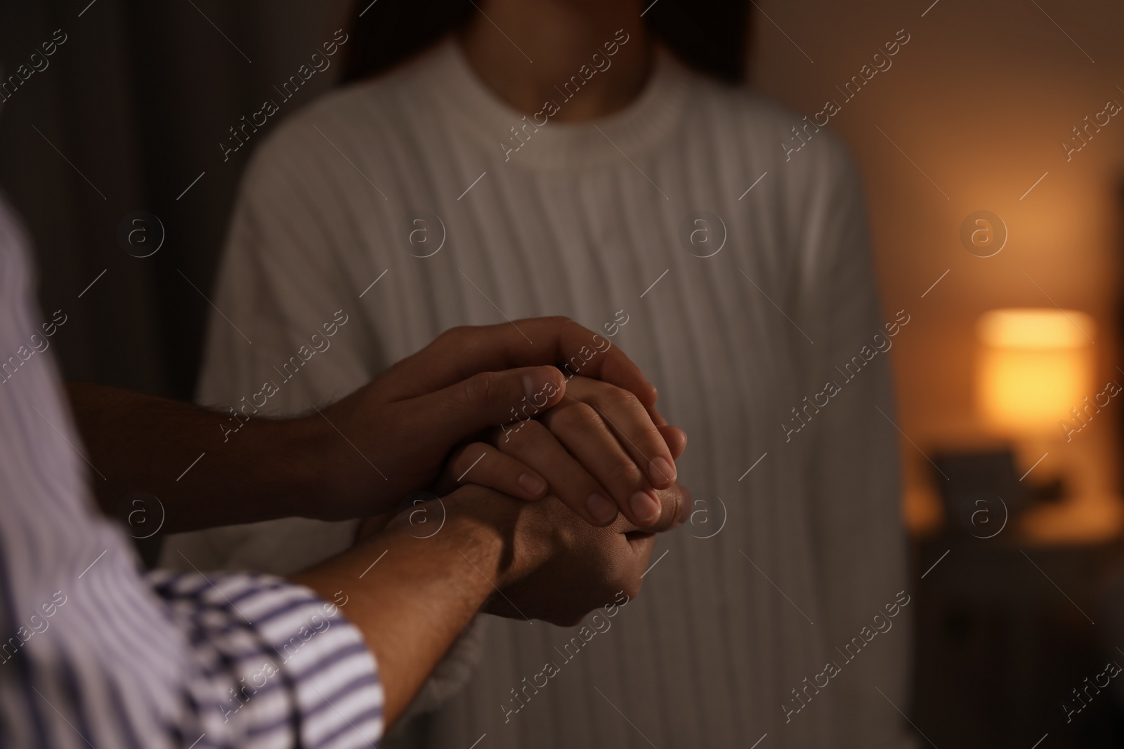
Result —
<path fill-rule="evenodd" d="M 533 419 L 564 393 L 565 377 L 556 367 L 522 367 L 481 372 L 414 404 L 452 445 L 483 429 Z"/>

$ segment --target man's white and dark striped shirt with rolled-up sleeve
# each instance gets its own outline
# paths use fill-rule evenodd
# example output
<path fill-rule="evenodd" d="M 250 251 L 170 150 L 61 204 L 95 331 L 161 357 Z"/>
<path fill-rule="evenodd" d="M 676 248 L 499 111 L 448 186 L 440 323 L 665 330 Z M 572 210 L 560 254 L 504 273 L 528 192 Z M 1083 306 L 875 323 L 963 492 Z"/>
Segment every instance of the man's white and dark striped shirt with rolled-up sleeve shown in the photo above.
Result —
<path fill-rule="evenodd" d="M 33 282 L 0 200 L 0 749 L 374 747 L 382 685 L 335 604 L 269 575 L 146 575 L 97 513 L 49 351 L 73 310 L 40 321 Z"/>

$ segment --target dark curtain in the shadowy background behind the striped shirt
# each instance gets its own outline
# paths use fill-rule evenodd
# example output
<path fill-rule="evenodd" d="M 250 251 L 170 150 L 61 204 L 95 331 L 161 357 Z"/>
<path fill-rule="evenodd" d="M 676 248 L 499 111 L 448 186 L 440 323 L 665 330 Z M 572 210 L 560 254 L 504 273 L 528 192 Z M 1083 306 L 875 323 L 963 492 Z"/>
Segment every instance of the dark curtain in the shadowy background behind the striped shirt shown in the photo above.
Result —
<path fill-rule="evenodd" d="M 0 10 L 9 82 L 0 185 L 34 243 L 45 319 L 66 314 L 52 338 L 66 377 L 192 396 L 205 295 L 241 172 L 282 117 L 330 88 L 341 55 L 228 161 L 219 143 L 265 99 L 280 99 L 273 85 L 332 39 L 347 10 L 347 0 L 52 0 Z M 53 37 L 65 40 L 47 56 Z M 164 227 L 149 257 L 118 240 L 134 211 Z M 155 228 L 129 228 L 139 254 Z"/>

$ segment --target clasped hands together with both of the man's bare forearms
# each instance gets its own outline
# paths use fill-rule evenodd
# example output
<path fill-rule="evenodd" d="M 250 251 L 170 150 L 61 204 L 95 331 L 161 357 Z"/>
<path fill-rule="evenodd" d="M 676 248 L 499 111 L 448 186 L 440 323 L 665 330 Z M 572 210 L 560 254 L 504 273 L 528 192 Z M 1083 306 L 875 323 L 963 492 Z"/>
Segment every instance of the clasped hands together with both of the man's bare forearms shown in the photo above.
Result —
<path fill-rule="evenodd" d="M 145 492 L 167 532 L 368 519 L 350 549 L 290 579 L 346 602 L 388 724 L 479 611 L 574 624 L 635 596 L 653 533 L 690 511 L 682 430 L 627 356 L 565 318 L 455 328 L 343 400 L 246 419 L 235 439 L 206 408 L 67 391 L 109 514 Z M 410 526 L 419 508 L 398 512 L 419 490 L 442 495 L 435 533 Z"/>

